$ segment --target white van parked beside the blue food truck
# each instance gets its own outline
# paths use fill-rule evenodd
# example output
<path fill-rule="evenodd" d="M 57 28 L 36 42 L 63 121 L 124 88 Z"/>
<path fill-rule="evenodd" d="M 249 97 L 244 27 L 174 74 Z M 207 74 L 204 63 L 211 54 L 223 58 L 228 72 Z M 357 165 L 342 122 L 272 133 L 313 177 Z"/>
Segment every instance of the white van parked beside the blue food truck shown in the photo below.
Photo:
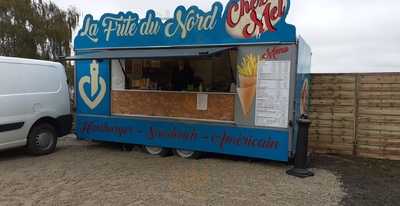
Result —
<path fill-rule="evenodd" d="M 49 154 L 71 128 L 63 65 L 0 56 L 0 150 L 26 146 Z"/>

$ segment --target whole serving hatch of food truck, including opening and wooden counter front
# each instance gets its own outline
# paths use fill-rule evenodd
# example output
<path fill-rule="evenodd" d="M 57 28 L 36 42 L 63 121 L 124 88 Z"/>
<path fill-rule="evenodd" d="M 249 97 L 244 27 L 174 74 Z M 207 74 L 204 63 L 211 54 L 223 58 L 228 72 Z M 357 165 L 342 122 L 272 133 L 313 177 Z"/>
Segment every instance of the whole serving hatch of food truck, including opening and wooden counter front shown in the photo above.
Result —
<path fill-rule="evenodd" d="M 112 61 L 112 113 L 234 121 L 236 50 Z"/>

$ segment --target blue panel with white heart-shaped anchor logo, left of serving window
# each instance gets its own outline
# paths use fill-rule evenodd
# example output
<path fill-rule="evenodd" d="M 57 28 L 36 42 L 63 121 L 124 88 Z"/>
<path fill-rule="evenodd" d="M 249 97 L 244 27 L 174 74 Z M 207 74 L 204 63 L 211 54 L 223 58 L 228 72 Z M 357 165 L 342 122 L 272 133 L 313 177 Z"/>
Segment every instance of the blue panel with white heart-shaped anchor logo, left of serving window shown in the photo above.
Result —
<path fill-rule="evenodd" d="M 110 115 L 110 61 L 76 62 L 77 113 Z"/>

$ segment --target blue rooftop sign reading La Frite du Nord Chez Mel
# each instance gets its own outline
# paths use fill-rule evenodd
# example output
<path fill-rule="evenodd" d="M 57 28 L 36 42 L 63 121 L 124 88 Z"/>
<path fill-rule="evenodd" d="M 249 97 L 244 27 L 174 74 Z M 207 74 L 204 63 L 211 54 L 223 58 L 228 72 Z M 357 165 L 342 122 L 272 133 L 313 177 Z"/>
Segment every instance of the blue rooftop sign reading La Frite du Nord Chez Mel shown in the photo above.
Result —
<path fill-rule="evenodd" d="M 214 3 L 209 11 L 179 6 L 166 21 L 153 10 L 144 18 L 133 12 L 98 20 L 87 15 L 75 49 L 294 43 L 296 28 L 286 23 L 289 8 L 290 0 L 231 0 L 225 8 Z"/>

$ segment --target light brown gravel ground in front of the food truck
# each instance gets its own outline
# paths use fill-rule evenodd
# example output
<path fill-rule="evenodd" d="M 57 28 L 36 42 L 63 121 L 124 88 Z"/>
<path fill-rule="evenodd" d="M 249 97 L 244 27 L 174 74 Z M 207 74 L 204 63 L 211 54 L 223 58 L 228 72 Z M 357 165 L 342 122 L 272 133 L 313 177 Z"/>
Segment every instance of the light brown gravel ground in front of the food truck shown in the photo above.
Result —
<path fill-rule="evenodd" d="M 345 193 L 325 169 L 287 176 L 282 163 L 209 156 L 200 160 L 121 152 L 60 139 L 56 153 L 0 152 L 0 205 L 339 205 Z"/>

